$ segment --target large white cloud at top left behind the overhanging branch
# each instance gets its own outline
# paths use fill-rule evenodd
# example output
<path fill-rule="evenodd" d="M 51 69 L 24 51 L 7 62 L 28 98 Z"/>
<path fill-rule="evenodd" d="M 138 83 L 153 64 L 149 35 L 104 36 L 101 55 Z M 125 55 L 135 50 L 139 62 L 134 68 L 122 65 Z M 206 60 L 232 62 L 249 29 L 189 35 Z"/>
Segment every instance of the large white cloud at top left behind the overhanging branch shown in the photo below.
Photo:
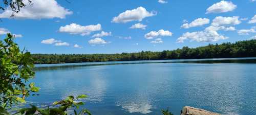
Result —
<path fill-rule="evenodd" d="M 28 5 L 28 1 L 24 1 L 27 5 L 21 8 L 19 13 L 15 13 L 15 18 L 20 19 L 41 19 L 41 18 L 65 18 L 73 12 L 61 7 L 55 0 L 36 0 L 33 5 Z M 10 18 L 12 9 L 8 7 L 0 18 Z"/>

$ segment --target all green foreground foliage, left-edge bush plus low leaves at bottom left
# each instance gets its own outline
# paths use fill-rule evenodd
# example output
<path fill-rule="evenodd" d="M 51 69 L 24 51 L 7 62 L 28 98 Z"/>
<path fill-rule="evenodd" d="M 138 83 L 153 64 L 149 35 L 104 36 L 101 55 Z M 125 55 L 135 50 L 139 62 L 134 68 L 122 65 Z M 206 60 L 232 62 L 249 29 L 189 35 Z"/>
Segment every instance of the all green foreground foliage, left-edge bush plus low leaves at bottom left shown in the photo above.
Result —
<path fill-rule="evenodd" d="M 4 41 L 0 41 L 0 115 L 10 115 L 7 110 L 12 109 L 13 104 L 26 103 L 26 97 L 39 91 L 40 88 L 36 87 L 35 83 L 29 83 L 35 75 L 32 71 L 33 63 L 30 52 L 20 51 L 11 34 L 7 34 Z M 47 108 L 30 105 L 30 108 L 22 108 L 15 114 L 68 115 L 68 109 L 73 108 L 75 115 L 91 115 L 90 111 L 84 108 L 77 112 L 79 106 L 84 105 L 77 100 L 83 98 L 87 96 L 69 96 Z"/>

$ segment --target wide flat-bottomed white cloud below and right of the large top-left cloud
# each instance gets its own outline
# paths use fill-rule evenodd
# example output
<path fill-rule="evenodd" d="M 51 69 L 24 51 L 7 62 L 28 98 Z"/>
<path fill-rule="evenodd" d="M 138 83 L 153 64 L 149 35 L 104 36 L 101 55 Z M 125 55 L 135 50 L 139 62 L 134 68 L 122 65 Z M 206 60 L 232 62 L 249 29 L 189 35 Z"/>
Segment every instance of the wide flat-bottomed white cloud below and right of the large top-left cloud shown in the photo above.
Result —
<path fill-rule="evenodd" d="M 82 36 L 89 35 L 91 32 L 99 31 L 101 30 L 101 25 L 89 25 L 89 26 L 81 26 L 75 23 L 72 23 L 70 25 L 66 25 L 64 27 L 59 28 L 59 32 L 65 32 L 70 34 L 80 34 Z"/>

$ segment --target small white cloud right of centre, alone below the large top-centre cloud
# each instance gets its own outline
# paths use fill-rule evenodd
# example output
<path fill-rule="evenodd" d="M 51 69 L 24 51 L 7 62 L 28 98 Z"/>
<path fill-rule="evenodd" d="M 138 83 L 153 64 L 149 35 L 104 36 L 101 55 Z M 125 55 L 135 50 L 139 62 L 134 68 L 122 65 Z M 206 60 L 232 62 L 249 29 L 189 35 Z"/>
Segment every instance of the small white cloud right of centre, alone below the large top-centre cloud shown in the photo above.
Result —
<path fill-rule="evenodd" d="M 158 36 L 172 36 L 172 35 L 173 35 L 173 33 L 168 31 L 168 30 L 166 30 L 166 31 L 165 30 L 159 30 L 158 32 L 151 31 L 151 32 L 145 34 L 144 37 L 146 39 L 153 39 L 153 38 L 158 37 Z"/>

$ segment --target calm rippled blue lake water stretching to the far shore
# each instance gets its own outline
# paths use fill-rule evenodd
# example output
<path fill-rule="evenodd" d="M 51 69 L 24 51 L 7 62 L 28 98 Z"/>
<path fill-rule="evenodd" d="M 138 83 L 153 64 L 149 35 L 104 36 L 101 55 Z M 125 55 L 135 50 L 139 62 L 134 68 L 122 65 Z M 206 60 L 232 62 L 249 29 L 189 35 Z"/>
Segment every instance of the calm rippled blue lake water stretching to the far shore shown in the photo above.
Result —
<path fill-rule="evenodd" d="M 254 115 L 256 59 L 242 59 L 41 64 L 34 79 L 40 96 L 28 101 L 44 106 L 87 94 L 81 101 L 97 115 L 160 114 L 167 107 L 178 115 L 183 106 Z"/>

